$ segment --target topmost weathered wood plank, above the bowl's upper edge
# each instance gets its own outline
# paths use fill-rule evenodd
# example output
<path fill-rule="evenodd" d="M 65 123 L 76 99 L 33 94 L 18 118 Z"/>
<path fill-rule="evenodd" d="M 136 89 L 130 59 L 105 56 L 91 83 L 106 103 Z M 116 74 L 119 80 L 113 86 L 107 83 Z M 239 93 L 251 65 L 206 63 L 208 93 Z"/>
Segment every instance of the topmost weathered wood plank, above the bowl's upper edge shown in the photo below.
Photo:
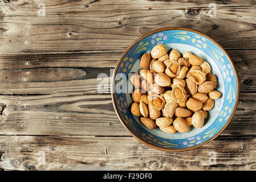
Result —
<path fill-rule="evenodd" d="M 43 17 L 40 2 L 1 6 L 0 54 L 124 51 L 147 32 L 175 26 L 202 31 L 224 48 L 256 48 L 254 1 L 213 1 L 217 14 L 209 16 L 206 1 L 48 0 Z"/>

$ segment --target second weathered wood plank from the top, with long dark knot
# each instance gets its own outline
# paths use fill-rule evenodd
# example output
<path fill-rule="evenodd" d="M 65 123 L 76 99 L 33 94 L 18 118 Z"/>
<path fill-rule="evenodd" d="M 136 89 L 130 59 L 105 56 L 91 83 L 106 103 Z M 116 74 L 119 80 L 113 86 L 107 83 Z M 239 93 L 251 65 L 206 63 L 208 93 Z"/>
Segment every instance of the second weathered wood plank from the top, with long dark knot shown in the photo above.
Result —
<path fill-rule="evenodd" d="M 241 92 L 255 92 L 255 50 L 227 52 L 237 68 Z M 0 94 L 110 93 L 111 69 L 113 71 L 120 55 L 1 55 Z M 100 73 L 108 78 L 97 79 Z M 99 84 L 105 87 L 97 89 Z"/>

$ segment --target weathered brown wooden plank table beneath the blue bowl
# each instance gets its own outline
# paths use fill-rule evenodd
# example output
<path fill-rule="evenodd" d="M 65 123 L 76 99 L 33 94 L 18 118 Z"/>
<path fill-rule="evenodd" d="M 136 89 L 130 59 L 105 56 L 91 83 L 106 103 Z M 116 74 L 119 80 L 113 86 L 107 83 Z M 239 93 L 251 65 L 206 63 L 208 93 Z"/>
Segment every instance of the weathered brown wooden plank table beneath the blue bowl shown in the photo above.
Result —
<path fill-rule="evenodd" d="M 255 170 L 255 0 L 0 5 L 0 169 Z M 109 88 L 111 69 L 129 44 L 174 26 L 220 43 L 241 88 L 224 132 L 186 152 L 158 151 L 133 138 L 115 114 Z M 97 92 L 99 73 L 109 77 L 104 93 Z"/>

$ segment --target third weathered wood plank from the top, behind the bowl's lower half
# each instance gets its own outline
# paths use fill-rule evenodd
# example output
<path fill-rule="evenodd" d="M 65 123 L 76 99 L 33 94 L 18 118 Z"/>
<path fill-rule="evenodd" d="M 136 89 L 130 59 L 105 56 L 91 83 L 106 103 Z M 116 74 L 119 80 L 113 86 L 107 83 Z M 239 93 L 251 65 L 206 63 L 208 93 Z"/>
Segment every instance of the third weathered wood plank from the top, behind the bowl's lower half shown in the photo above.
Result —
<path fill-rule="evenodd" d="M 130 136 L 110 94 L 0 96 L 0 135 Z M 255 135 L 256 93 L 241 93 L 221 135 Z"/>

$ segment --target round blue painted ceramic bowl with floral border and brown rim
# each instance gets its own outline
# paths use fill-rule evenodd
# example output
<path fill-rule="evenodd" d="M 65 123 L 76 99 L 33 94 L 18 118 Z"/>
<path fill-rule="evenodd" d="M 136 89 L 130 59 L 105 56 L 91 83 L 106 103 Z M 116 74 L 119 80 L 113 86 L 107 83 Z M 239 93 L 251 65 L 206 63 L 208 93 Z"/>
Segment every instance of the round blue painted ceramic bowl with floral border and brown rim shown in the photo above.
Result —
<path fill-rule="evenodd" d="M 164 133 L 158 127 L 149 130 L 140 122 L 140 117 L 131 113 L 132 86 L 128 81 L 128 73 L 139 73 L 141 56 L 145 52 L 150 53 L 157 44 L 164 44 L 168 53 L 173 48 L 182 54 L 189 51 L 202 57 L 212 67 L 211 72 L 218 81 L 216 90 L 222 93 L 222 97 L 208 111 L 205 125 L 200 129 L 191 127 L 187 133 L 175 134 Z M 224 48 L 202 32 L 180 27 L 155 30 L 132 43 L 116 65 L 111 89 L 116 114 L 129 133 L 140 142 L 165 151 L 192 150 L 216 138 L 233 117 L 239 95 L 237 72 Z"/>

